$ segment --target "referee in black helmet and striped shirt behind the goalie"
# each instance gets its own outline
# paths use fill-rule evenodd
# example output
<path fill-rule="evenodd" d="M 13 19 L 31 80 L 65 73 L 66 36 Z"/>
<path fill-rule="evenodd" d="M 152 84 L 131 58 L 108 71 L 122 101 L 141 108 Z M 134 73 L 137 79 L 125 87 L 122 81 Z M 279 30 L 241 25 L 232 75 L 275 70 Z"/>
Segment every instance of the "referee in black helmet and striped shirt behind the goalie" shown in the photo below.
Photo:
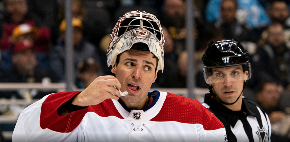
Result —
<path fill-rule="evenodd" d="M 225 142 L 269 142 L 268 115 L 253 101 L 243 98 L 251 78 L 248 51 L 237 40 L 211 41 L 202 56 L 204 79 L 209 86 L 203 105 L 226 128 Z"/>

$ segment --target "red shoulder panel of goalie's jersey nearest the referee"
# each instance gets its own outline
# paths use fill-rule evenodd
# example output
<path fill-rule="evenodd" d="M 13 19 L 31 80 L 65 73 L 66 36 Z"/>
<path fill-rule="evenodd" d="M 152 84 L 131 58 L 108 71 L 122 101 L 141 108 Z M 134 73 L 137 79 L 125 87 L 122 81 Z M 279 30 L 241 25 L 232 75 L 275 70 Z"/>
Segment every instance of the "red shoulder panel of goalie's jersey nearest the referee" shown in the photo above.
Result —
<path fill-rule="evenodd" d="M 167 92 L 160 112 L 151 121 L 177 121 L 202 124 L 204 130 L 224 128 L 222 122 L 197 100 Z"/>

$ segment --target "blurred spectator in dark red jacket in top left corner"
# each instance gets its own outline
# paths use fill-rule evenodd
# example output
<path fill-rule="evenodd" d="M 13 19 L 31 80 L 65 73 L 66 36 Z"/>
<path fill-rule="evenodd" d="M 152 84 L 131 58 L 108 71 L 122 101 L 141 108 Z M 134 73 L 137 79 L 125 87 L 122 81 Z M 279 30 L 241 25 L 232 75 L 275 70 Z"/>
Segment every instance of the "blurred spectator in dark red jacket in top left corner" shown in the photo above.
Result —
<path fill-rule="evenodd" d="M 0 22 L 0 35 L 2 36 L 0 40 L 0 48 L 3 51 L 9 50 L 13 44 L 9 38 L 13 29 L 15 29 L 19 24 L 26 23 L 36 27 L 41 25 L 39 18 L 28 12 L 28 3 L 26 0 L 5 0 L 4 3 L 7 14 Z M 35 39 L 35 50 L 47 53 L 49 50 L 49 42 L 50 29 L 47 27 L 41 27 L 39 29 L 39 36 Z"/>

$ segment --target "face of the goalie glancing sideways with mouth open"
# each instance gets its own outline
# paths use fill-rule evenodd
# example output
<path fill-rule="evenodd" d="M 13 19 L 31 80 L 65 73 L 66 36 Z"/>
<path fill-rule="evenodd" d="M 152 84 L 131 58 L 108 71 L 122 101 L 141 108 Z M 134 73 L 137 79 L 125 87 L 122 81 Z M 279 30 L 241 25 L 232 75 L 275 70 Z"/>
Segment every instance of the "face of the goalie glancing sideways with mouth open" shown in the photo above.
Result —
<path fill-rule="evenodd" d="M 158 60 L 158 59 L 157 59 Z M 138 103 L 146 100 L 152 83 L 157 78 L 156 58 L 150 51 L 127 50 L 119 57 L 119 64 L 112 73 L 121 83 L 121 91 L 128 95 L 121 97 L 124 102 Z"/>

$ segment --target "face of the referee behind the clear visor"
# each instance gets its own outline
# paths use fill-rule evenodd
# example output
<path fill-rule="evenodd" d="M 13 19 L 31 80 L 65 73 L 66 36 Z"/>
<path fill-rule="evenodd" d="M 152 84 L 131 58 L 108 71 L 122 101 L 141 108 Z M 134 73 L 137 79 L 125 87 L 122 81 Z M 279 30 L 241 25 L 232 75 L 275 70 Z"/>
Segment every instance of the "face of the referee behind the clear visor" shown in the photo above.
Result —
<path fill-rule="evenodd" d="M 248 71 L 243 72 L 242 65 L 240 65 L 226 68 L 215 68 L 212 69 L 212 74 L 218 74 L 217 76 L 224 77 L 224 81 L 210 84 L 212 85 L 212 90 L 215 95 L 217 95 L 217 98 L 227 103 L 235 102 L 243 90 L 245 80 L 235 80 L 233 76 L 236 76 L 237 74 L 248 74 Z"/>

